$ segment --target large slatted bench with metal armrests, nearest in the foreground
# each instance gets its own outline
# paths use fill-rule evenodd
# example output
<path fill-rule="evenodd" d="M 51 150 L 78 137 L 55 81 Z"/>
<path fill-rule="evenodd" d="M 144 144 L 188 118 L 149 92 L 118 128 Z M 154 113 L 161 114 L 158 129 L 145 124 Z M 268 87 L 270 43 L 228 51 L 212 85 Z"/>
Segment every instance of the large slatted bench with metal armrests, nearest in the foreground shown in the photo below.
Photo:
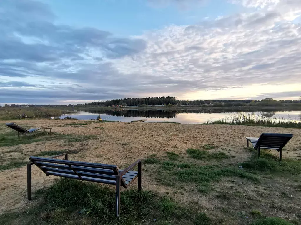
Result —
<path fill-rule="evenodd" d="M 65 160 L 55 159 L 65 156 Z M 68 160 L 68 153 L 51 156 L 49 158 L 30 156 L 27 164 L 27 197 L 31 200 L 31 165 L 35 164 L 46 176 L 60 176 L 83 181 L 98 182 L 116 186 L 116 216 L 120 211 L 120 186 L 127 188 L 138 177 L 138 191 L 141 191 L 141 160 L 135 161 L 124 170 L 116 165 L 88 163 Z M 138 172 L 131 169 L 138 164 Z"/>

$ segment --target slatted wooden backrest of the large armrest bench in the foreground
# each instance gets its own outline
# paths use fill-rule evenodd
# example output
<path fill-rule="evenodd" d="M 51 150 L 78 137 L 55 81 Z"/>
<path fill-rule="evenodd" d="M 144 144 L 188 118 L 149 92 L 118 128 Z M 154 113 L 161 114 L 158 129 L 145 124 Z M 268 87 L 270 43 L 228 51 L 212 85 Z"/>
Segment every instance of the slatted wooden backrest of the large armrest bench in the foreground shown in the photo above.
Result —
<path fill-rule="evenodd" d="M 54 175 L 104 184 L 116 184 L 116 175 L 119 169 L 116 165 L 88 163 L 52 158 L 30 156 L 30 161 L 39 167 L 46 176 Z M 126 182 L 121 179 L 121 185 Z"/>

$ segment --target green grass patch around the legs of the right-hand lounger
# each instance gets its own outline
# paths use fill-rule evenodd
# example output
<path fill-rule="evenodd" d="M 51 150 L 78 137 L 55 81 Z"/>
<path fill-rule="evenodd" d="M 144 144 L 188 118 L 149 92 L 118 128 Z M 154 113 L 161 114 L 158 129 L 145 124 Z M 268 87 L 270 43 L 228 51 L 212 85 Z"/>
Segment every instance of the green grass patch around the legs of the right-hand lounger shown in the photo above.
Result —
<path fill-rule="evenodd" d="M 283 159 L 282 162 L 279 161 L 278 157 L 272 155 L 268 150 L 262 149 L 260 151 L 260 158 L 257 156 L 257 151 L 250 149 L 252 151 L 252 156 L 246 162 L 241 163 L 240 165 L 243 168 L 249 170 L 256 170 L 259 172 L 271 172 L 271 173 L 285 173 L 290 174 L 299 174 L 301 173 L 301 161 L 300 160 L 291 160 Z"/>

